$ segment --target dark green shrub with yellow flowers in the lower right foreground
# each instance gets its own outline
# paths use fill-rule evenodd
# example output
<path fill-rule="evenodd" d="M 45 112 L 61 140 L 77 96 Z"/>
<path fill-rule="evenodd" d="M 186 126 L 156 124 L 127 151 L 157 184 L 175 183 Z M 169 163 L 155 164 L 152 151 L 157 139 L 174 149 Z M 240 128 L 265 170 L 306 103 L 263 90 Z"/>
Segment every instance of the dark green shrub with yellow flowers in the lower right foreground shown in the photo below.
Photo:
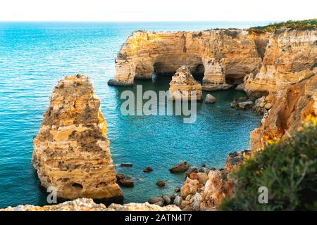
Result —
<path fill-rule="evenodd" d="M 282 141 L 271 141 L 232 172 L 235 198 L 218 210 L 317 210 L 316 117 Z M 259 203 L 259 187 L 268 188 L 268 203 Z"/>

